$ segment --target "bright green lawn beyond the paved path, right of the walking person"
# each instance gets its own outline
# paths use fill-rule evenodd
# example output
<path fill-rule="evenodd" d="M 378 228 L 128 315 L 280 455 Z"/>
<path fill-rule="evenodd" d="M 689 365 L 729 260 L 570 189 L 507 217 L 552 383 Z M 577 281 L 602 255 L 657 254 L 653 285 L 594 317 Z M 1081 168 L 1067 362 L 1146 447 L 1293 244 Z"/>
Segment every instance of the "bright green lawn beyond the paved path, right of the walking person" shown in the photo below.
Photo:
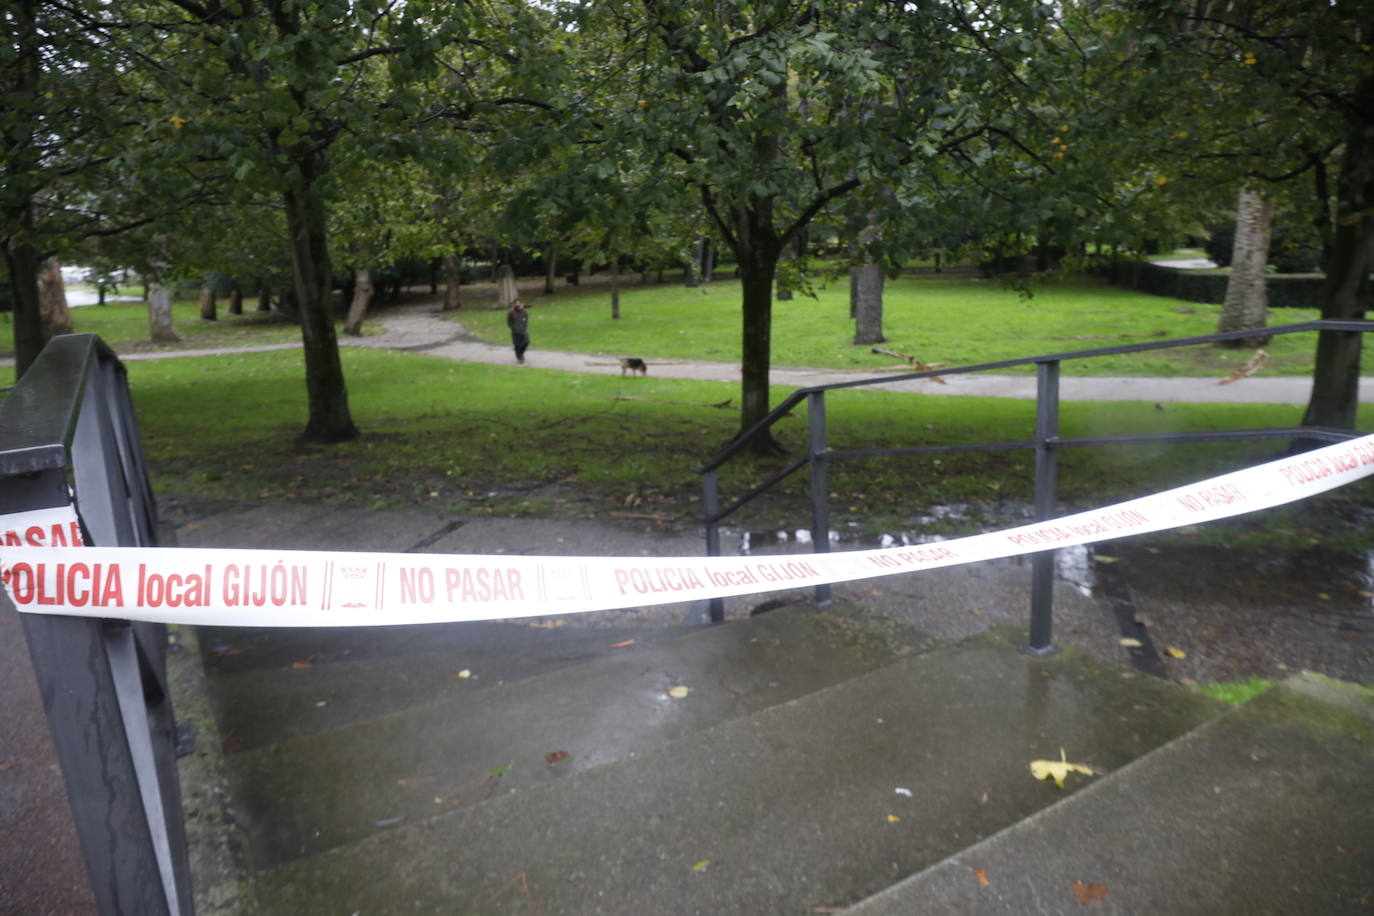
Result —
<path fill-rule="evenodd" d="M 739 360 L 739 283 L 717 280 L 690 290 L 649 284 L 621 294 L 621 319 L 610 317 L 610 293 L 600 288 L 569 295 L 532 297 L 533 346 L 639 356 L 658 360 Z M 818 288 L 818 298 L 798 297 L 774 305 L 774 365 L 860 368 L 893 365 L 868 346 L 855 346 L 848 312 L 848 283 Z M 900 277 L 883 295 L 883 331 L 889 349 L 925 363 L 967 365 L 1041 353 L 1087 350 L 1216 331 L 1220 306 L 1182 302 L 1110 287 L 1095 280 L 1037 284 L 1022 297 L 1000 280 Z M 1272 324 L 1318 317 L 1312 310 L 1283 309 Z M 506 339 L 499 310 L 473 308 L 455 316 L 491 341 Z M 1312 371 L 1315 338 L 1285 335 L 1267 347 L 1265 375 Z M 1216 347 L 1156 350 L 1063 364 L 1070 375 L 1226 376 L 1252 353 Z M 1030 369 L 1024 369 L 1029 372 Z"/>

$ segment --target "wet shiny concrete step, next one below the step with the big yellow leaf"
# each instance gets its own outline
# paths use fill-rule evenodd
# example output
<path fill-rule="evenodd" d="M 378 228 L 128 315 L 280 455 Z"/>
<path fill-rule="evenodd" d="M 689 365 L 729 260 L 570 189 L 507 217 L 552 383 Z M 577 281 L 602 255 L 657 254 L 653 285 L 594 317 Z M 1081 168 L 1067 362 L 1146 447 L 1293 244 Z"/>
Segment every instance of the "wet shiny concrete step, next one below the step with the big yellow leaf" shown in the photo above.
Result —
<path fill-rule="evenodd" d="M 246 858 L 265 868 L 565 781 L 929 647 L 910 630 L 877 628 L 794 606 L 235 754 L 227 764 Z M 374 691 L 371 667 L 354 666 L 354 689 Z M 679 685 L 686 699 L 669 696 Z"/>

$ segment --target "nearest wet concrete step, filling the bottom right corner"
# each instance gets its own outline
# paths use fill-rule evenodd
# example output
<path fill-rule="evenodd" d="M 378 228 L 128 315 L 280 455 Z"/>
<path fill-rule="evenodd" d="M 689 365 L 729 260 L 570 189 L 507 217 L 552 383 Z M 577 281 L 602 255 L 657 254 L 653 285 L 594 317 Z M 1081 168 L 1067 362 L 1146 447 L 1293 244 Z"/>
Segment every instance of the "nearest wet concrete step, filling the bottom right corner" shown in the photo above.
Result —
<path fill-rule="evenodd" d="M 1371 812 L 1374 695 L 1305 676 L 848 912 L 1364 915 Z"/>

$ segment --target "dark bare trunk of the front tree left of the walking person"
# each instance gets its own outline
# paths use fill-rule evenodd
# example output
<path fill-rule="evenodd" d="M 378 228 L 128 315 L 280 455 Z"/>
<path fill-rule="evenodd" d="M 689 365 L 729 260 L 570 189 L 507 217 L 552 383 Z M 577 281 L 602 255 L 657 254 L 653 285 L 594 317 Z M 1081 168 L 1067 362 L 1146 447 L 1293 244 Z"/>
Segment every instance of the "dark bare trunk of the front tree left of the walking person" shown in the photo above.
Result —
<path fill-rule="evenodd" d="M 324 172 L 317 154 L 295 157 L 301 184 L 284 195 L 287 235 L 291 240 L 291 275 L 305 350 L 305 393 L 309 419 L 301 438 L 306 442 L 344 442 L 359 433 L 348 408 L 344 363 L 330 308 L 328 236 L 324 203 L 316 187 Z"/>

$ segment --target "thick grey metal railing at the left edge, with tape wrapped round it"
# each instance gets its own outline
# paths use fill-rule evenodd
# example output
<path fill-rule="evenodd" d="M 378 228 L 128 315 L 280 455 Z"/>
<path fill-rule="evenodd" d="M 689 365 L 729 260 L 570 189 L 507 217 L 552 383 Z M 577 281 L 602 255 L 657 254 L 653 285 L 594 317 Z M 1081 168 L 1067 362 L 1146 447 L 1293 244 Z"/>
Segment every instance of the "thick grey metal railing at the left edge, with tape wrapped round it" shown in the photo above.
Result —
<path fill-rule="evenodd" d="M 128 379 L 93 334 L 54 338 L 0 404 L 0 515 L 66 505 L 88 544 L 157 544 Z M 96 905 L 191 913 L 166 626 L 19 617 Z"/>

